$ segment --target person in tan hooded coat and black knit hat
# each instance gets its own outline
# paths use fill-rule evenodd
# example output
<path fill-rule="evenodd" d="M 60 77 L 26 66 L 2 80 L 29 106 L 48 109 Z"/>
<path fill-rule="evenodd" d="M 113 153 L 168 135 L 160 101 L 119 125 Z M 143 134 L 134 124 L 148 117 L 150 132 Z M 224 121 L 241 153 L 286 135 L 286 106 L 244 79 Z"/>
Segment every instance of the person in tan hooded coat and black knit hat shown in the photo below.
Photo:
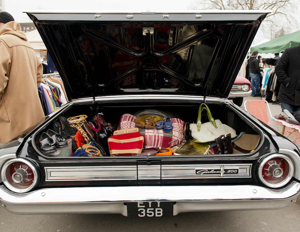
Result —
<path fill-rule="evenodd" d="M 42 120 L 38 96 L 43 66 L 7 12 L 0 12 L 0 145 Z"/>

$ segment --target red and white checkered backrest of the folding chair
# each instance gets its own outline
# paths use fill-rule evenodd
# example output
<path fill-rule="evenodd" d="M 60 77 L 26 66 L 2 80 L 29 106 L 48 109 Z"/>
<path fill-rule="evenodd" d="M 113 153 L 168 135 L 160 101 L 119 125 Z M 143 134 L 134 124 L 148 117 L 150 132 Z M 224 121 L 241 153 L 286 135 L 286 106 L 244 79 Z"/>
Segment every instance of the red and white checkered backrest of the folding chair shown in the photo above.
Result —
<path fill-rule="evenodd" d="M 269 122 L 268 111 L 265 100 L 247 101 L 248 112 L 255 118 L 263 121 L 265 124 Z"/>

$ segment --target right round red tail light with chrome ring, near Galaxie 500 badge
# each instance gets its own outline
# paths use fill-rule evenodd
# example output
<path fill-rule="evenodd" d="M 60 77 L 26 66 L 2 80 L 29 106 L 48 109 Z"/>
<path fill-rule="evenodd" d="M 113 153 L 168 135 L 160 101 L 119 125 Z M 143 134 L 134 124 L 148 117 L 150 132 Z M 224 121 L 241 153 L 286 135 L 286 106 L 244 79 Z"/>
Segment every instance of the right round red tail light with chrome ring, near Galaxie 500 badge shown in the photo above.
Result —
<path fill-rule="evenodd" d="M 279 188 L 286 185 L 294 174 L 294 164 L 286 155 L 273 154 L 259 164 L 258 177 L 266 186 Z"/>

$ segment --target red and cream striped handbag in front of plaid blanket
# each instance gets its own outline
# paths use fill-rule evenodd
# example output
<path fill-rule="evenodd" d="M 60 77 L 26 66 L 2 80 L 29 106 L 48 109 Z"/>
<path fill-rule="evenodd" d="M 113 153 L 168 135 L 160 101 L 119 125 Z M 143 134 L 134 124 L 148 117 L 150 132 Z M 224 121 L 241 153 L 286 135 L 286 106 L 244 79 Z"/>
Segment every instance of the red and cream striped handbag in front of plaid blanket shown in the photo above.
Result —
<path fill-rule="evenodd" d="M 127 130 L 116 130 L 107 141 L 110 155 L 136 155 L 142 152 L 144 137 L 140 134 L 139 128 L 135 127 Z"/>

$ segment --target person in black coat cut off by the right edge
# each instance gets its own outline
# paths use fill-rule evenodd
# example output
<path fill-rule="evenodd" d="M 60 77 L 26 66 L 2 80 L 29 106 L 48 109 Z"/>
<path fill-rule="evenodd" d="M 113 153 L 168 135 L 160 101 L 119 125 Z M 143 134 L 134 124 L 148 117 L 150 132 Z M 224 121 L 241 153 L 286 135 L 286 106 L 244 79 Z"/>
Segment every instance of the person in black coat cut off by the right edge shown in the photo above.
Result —
<path fill-rule="evenodd" d="M 300 45 L 287 48 L 280 57 L 275 74 L 280 81 L 278 100 L 282 112 L 300 110 Z"/>

